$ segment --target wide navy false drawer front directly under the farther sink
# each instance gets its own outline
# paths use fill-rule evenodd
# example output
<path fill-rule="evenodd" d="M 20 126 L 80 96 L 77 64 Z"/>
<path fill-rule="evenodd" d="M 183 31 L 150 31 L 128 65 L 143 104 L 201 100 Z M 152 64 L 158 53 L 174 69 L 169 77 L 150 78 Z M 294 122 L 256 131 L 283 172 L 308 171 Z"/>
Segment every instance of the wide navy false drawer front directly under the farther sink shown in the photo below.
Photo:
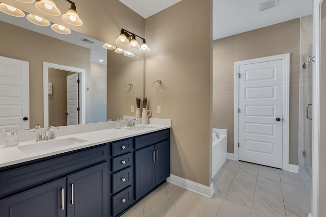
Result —
<path fill-rule="evenodd" d="M 135 149 L 143 148 L 170 138 L 170 129 L 141 135 L 135 138 Z"/>

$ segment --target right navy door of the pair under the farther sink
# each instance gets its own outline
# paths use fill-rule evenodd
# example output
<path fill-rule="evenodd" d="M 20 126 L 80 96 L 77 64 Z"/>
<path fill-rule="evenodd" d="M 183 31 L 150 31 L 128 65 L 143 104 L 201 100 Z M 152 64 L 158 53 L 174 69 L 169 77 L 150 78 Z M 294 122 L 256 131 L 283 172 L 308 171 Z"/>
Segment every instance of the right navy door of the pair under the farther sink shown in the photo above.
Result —
<path fill-rule="evenodd" d="M 155 150 L 155 185 L 158 185 L 170 176 L 170 141 L 156 144 Z"/>

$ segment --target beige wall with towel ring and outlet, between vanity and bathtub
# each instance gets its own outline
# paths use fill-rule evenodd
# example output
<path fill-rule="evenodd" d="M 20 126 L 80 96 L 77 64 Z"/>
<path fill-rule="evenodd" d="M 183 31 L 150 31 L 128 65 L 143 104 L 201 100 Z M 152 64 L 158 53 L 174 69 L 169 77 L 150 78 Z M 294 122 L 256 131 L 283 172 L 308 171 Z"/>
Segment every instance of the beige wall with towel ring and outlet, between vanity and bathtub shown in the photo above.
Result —
<path fill-rule="evenodd" d="M 171 174 L 210 184 L 211 1 L 183 0 L 146 19 L 145 96 L 171 118 Z M 155 91 L 152 84 L 162 81 Z M 161 106 L 161 114 L 156 106 Z"/>

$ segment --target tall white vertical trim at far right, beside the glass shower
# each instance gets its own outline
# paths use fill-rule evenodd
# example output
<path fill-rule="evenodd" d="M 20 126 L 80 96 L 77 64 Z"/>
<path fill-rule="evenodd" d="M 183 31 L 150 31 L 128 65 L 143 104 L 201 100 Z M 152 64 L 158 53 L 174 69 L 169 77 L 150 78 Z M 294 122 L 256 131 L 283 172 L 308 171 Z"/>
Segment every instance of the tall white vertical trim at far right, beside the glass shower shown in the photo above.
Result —
<path fill-rule="evenodd" d="M 315 0 L 313 8 L 313 111 L 312 111 L 312 191 L 311 216 L 318 216 L 318 171 L 319 171 L 319 110 L 320 110 L 320 5 L 323 0 Z M 323 204 L 321 204 L 323 205 Z"/>

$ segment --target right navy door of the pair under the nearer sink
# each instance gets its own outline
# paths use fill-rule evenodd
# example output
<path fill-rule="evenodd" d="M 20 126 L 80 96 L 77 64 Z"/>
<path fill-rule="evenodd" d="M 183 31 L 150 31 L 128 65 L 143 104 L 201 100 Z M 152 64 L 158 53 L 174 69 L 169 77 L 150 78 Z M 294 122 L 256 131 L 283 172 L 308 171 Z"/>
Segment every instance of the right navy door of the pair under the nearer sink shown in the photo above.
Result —
<path fill-rule="evenodd" d="M 68 216 L 108 216 L 107 162 L 67 176 Z"/>

